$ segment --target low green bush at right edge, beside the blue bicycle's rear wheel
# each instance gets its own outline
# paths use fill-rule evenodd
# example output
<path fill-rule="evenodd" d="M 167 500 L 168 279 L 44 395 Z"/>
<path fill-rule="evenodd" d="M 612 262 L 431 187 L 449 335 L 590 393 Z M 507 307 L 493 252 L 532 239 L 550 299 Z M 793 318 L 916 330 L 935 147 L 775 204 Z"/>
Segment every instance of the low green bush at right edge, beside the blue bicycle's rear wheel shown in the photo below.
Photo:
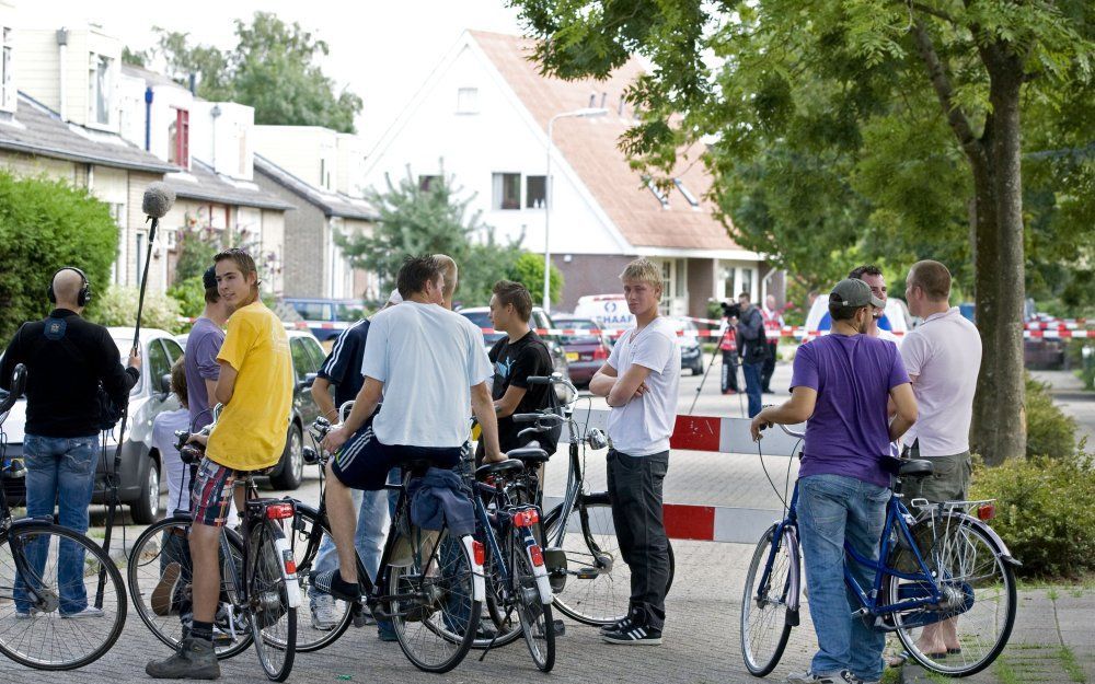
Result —
<path fill-rule="evenodd" d="M 1023 563 L 1017 573 L 1079 578 L 1095 570 L 1095 462 L 1071 459 L 1013 459 L 978 466 L 973 499 L 996 499 L 990 523 Z"/>

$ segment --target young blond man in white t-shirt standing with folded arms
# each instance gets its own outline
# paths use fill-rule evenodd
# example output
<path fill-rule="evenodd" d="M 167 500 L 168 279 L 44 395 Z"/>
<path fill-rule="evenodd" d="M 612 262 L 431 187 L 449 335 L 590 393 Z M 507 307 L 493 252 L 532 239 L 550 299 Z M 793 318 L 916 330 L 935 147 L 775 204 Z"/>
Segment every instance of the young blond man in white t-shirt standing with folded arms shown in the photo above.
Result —
<path fill-rule="evenodd" d="M 620 553 L 631 569 L 631 606 L 601 628 L 610 644 L 661 644 L 669 580 L 669 538 L 661 517 L 661 485 L 669 438 L 677 421 L 681 348 L 672 323 L 658 315 L 661 269 L 646 259 L 627 265 L 623 281 L 635 328 L 620 338 L 589 383 L 609 414 L 609 501 Z"/>

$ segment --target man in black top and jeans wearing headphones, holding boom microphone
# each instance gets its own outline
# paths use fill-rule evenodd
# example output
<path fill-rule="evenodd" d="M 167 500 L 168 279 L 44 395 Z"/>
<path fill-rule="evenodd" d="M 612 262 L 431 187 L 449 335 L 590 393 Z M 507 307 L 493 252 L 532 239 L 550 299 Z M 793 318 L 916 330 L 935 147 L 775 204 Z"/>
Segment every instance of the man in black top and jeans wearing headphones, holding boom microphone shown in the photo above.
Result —
<path fill-rule="evenodd" d="M 46 295 L 55 309 L 15 333 L 0 364 L 0 386 L 10 390 L 12 370 L 18 363 L 26 366 L 26 514 L 53 517 L 56 505 L 58 522 L 82 534 L 88 531 L 95 486 L 99 432 L 120 418 L 120 407 L 140 379 L 140 356 L 134 349 L 128 368 L 123 368 L 106 328 L 80 316 L 91 300 L 91 282 L 79 268 L 66 266 L 55 273 Z M 73 581 L 72 573 L 79 577 L 82 568 L 83 550 L 62 546 L 58 578 L 62 618 L 103 615 L 88 604 L 84 582 Z M 19 607 L 15 613 L 31 616 Z"/>

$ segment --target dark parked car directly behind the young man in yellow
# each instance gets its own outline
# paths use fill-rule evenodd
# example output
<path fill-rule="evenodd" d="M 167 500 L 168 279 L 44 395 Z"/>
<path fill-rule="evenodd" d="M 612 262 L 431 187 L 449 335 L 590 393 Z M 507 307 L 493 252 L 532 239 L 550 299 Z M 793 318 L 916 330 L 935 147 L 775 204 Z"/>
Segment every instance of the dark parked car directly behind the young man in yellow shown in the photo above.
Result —
<path fill-rule="evenodd" d="M 320 415 L 312 398 L 312 382 L 323 366 L 326 352 L 320 340 L 308 331 L 287 329 L 289 352 L 292 356 L 295 382 L 292 387 L 292 419 L 285 440 L 281 460 L 270 471 L 270 486 L 275 489 L 296 489 L 304 477 L 304 429 Z M 186 335 L 176 339 L 186 346 Z"/>

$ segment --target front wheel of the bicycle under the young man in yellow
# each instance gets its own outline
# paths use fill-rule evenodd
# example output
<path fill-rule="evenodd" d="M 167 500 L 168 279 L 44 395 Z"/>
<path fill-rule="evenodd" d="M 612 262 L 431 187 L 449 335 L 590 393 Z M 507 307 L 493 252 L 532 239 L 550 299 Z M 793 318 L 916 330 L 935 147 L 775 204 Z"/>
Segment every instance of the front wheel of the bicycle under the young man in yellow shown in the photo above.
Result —
<path fill-rule="evenodd" d="M 187 533 L 191 519 L 186 515 L 165 518 L 148 528 L 137 537 L 129 550 L 126 577 L 129 598 L 137 616 L 157 639 L 177 649 L 183 638 L 183 614 L 189 612 L 192 601 L 191 563 Z M 214 645 L 218 660 L 227 660 L 251 646 L 251 628 L 243 615 L 237 615 L 240 592 L 237 578 L 243 572 L 243 541 L 226 528 L 221 534 L 228 542 L 235 569 L 229 565 L 228 555 L 220 554 L 220 610 L 215 622 Z"/>

